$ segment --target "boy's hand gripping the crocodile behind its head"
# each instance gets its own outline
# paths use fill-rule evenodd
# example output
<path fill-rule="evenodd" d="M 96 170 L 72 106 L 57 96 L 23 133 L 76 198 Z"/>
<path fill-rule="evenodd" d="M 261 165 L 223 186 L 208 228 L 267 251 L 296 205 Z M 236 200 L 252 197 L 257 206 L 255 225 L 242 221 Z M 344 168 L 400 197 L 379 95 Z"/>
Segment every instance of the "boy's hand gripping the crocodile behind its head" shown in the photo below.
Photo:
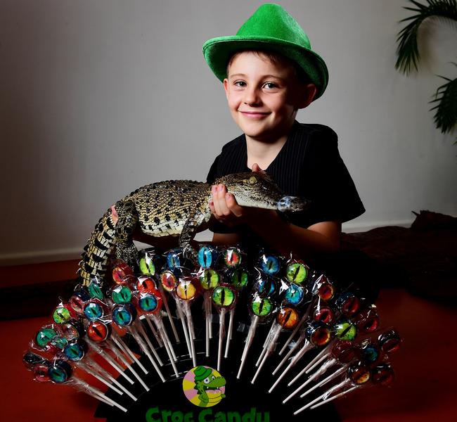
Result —
<path fill-rule="evenodd" d="M 257 163 L 252 165 L 252 172 L 262 172 Z M 233 227 L 248 222 L 247 220 L 258 213 L 255 208 L 243 208 L 236 202 L 235 196 L 227 192 L 224 184 L 212 186 L 210 209 L 216 219 L 226 226 Z"/>

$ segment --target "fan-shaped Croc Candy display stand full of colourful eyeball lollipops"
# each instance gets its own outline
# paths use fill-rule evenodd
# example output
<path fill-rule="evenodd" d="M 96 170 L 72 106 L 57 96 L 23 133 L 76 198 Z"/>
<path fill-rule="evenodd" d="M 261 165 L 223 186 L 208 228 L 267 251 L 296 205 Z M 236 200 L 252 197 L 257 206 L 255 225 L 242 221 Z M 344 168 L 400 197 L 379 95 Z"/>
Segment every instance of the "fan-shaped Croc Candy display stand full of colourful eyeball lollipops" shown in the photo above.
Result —
<path fill-rule="evenodd" d="M 202 245 L 113 260 L 59 299 L 23 357 L 34 380 L 107 421 L 336 421 L 330 404 L 392 383 L 401 344 L 356 286 L 293 256 Z"/>

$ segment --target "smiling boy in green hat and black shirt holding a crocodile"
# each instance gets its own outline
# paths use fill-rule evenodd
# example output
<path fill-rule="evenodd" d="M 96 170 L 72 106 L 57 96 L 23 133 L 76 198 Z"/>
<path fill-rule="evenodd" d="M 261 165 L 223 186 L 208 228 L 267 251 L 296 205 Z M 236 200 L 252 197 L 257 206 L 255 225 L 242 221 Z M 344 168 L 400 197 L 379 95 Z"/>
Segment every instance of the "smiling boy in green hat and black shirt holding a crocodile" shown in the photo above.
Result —
<path fill-rule="evenodd" d="M 326 64 L 311 51 L 307 35 L 281 6 L 264 4 L 236 36 L 210 39 L 203 53 L 243 131 L 222 148 L 208 183 L 225 174 L 265 171 L 285 193 L 311 200 L 309 210 L 286 222 L 275 211 L 240 207 L 224 185 L 212 186 L 210 207 L 220 223 L 214 243 L 262 238 L 283 255 L 292 251 L 304 259 L 337 251 L 341 223 L 364 208 L 335 132 L 295 121 L 297 110 L 320 97 L 328 81 Z"/>

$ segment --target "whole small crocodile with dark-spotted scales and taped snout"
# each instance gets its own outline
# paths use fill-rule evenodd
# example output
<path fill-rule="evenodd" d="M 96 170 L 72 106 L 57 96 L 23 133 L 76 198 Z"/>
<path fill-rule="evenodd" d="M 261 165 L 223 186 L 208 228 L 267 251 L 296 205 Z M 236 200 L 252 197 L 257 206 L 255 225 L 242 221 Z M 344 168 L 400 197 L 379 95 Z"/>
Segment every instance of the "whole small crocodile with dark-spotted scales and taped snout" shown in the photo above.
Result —
<path fill-rule="evenodd" d="M 259 172 L 228 174 L 214 184 L 225 184 L 238 204 L 245 207 L 297 211 L 307 206 L 302 198 L 285 196 L 271 177 Z M 117 222 L 110 209 L 105 212 L 84 248 L 78 270 L 84 286 L 92 276 L 103 279 L 114 250 L 118 259 L 136 267 L 138 250 L 133 235 L 137 227 L 150 236 L 179 236 L 179 246 L 195 257 L 191 241 L 210 224 L 210 198 L 210 184 L 168 180 L 142 186 L 117 201 Z"/>

